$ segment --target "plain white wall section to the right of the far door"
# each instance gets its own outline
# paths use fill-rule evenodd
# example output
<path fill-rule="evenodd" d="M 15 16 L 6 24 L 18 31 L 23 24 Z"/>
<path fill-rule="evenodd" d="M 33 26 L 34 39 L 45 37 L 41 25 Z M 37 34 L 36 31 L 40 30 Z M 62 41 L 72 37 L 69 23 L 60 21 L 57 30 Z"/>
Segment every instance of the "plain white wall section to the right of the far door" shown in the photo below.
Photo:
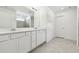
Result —
<path fill-rule="evenodd" d="M 64 33 L 65 39 L 77 39 L 77 11 L 76 9 L 69 10 L 64 13 Z"/>

